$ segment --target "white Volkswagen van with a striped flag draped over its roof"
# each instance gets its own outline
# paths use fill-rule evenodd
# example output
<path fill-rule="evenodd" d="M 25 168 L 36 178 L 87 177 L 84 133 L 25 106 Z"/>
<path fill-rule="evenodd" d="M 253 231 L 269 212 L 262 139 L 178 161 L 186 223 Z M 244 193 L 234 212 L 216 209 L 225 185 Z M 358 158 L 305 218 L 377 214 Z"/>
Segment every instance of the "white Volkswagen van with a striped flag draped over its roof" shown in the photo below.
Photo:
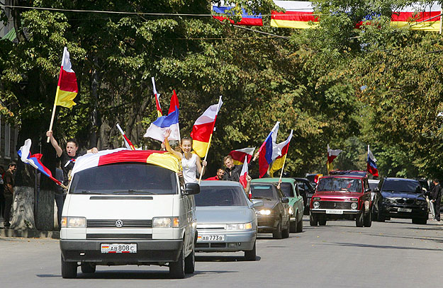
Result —
<path fill-rule="evenodd" d="M 79 157 L 62 212 L 62 277 L 96 265 L 168 265 L 193 273 L 196 183 L 162 151 L 115 149 Z"/>

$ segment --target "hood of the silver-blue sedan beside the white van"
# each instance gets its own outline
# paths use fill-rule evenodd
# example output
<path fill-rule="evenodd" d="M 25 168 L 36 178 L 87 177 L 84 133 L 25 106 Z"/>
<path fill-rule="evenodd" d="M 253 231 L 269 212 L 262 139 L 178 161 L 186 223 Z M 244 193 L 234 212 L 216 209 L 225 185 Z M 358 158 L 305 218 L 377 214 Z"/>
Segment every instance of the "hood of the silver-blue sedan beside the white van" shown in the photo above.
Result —
<path fill-rule="evenodd" d="M 197 224 L 234 224 L 253 220 L 254 213 L 247 206 L 196 207 Z"/>

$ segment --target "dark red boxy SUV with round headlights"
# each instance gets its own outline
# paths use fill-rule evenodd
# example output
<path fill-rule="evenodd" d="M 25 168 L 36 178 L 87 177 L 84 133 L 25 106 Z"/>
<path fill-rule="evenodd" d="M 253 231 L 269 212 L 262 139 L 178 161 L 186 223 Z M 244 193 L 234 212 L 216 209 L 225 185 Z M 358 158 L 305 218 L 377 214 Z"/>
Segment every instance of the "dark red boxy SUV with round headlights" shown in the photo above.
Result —
<path fill-rule="evenodd" d="M 357 227 L 371 226 L 371 189 L 364 171 L 334 171 L 320 178 L 310 199 L 310 226 L 327 220 L 355 220 Z"/>

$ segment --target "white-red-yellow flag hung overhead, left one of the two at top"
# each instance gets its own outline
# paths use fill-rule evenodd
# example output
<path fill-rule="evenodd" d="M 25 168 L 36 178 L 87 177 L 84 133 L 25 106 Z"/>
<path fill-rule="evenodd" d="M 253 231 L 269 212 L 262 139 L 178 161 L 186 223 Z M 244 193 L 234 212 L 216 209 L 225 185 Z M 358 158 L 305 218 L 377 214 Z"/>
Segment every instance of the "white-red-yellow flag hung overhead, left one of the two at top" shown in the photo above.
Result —
<path fill-rule="evenodd" d="M 308 1 L 274 1 L 276 6 L 286 12 L 271 11 L 271 27 L 312 28 L 310 22 L 318 24 L 319 17 L 314 15 L 313 4 Z"/>

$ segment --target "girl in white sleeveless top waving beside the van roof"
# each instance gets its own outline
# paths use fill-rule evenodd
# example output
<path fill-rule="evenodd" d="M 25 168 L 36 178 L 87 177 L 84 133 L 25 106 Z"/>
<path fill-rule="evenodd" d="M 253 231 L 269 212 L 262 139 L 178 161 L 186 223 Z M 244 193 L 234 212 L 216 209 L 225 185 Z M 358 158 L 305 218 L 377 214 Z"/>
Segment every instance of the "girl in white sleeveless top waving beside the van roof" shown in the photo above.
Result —
<path fill-rule="evenodd" d="M 171 134 L 171 130 L 168 129 L 166 133 L 164 134 L 164 146 L 166 147 L 167 151 L 176 156 L 178 159 L 181 160 L 181 167 L 183 168 L 183 178 L 185 183 L 197 183 L 197 177 L 196 172 L 198 170 L 198 173 L 201 173 L 202 171 L 202 165 L 206 166 L 206 161 L 201 161 L 200 157 L 198 157 L 197 154 L 192 154 L 192 139 L 191 137 L 183 137 L 181 138 L 181 151 L 183 151 L 183 154 L 180 152 L 174 151 L 168 142 L 168 137 Z M 203 171 L 204 173 L 204 171 Z"/>

